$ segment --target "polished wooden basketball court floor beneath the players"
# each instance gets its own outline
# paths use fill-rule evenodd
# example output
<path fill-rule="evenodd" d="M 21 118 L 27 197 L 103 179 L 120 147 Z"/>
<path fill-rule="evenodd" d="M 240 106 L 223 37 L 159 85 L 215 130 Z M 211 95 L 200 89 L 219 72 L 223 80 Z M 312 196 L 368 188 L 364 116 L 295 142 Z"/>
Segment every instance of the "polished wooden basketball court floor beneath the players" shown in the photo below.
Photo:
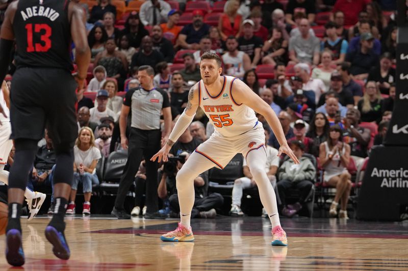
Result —
<path fill-rule="evenodd" d="M 408 221 L 281 219 L 288 247 L 272 247 L 258 217 L 192 220 L 194 243 L 164 243 L 177 220 L 67 218 L 68 261 L 56 258 L 43 230 L 49 218 L 22 219 L 25 264 L 11 267 L 0 236 L 0 270 L 408 270 Z"/>

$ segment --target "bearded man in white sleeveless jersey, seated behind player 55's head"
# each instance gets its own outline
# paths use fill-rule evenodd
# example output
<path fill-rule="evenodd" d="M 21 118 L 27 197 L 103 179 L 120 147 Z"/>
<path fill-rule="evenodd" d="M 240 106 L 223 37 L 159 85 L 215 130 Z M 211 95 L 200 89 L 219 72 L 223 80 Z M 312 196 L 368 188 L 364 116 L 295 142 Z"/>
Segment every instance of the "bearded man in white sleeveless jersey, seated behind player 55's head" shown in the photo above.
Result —
<path fill-rule="evenodd" d="M 245 52 L 238 51 L 238 40 L 234 36 L 228 37 L 225 44 L 227 52 L 221 57 L 225 74 L 242 78 L 251 68 L 251 59 Z"/>

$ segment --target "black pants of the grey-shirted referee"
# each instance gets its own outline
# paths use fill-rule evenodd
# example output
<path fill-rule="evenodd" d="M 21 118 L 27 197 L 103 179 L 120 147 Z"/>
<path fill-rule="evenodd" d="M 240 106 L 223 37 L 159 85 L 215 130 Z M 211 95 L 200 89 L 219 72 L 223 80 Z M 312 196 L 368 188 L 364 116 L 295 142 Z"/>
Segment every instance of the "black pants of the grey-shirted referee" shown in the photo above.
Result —
<path fill-rule="evenodd" d="M 120 177 L 118 194 L 115 199 L 115 208 L 123 209 L 126 194 L 134 182 L 142 158 L 146 161 L 146 213 L 155 213 L 158 210 L 157 169 L 158 163 L 151 162 L 150 158 L 160 150 L 160 130 L 140 130 L 132 128 L 129 135 L 127 162 Z"/>

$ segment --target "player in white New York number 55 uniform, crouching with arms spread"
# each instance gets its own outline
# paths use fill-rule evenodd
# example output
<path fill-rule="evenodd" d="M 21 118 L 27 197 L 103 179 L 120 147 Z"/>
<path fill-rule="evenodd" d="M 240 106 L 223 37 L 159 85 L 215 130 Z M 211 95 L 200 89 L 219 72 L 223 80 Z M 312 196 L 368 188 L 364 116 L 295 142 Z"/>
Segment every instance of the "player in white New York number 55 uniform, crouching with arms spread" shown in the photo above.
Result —
<path fill-rule="evenodd" d="M 191 209 L 194 204 L 193 180 L 200 173 L 216 166 L 224 168 L 241 153 L 259 188 L 259 194 L 272 223 L 272 246 L 287 246 L 286 233 L 279 222 L 276 196 L 265 172 L 265 135 L 255 112 L 262 114 L 281 145 L 278 156 L 287 154 L 299 163 L 289 148 L 281 124 L 272 108 L 241 80 L 221 76 L 221 59 L 206 52 L 201 56 L 201 80 L 189 92 L 187 107 L 177 120 L 167 144 L 151 158 L 168 161 L 171 146 L 190 125 L 200 106 L 215 127 L 213 135 L 200 144 L 176 175 L 176 187 L 180 202 L 181 222 L 174 231 L 161 236 L 163 241 L 193 241 L 190 227 Z"/>

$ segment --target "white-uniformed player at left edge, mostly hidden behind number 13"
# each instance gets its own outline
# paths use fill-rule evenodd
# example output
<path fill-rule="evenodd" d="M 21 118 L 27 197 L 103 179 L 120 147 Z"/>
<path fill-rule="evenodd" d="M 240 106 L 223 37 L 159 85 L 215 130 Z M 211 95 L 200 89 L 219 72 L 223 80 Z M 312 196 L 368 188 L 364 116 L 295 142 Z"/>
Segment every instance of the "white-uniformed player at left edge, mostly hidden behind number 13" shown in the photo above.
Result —
<path fill-rule="evenodd" d="M 2 90 L 0 91 L 0 106 L 3 108 L 3 114 L 0 114 L 0 181 L 9 184 L 9 172 L 4 170 L 7 164 L 10 151 L 13 147 L 13 141 L 10 139 L 11 125 L 10 125 L 10 99 L 9 88 L 6 81 L 3 81 Z M 28 174 L 28 172 L 27 172 Z M 46 195 L 39 192 L 33 192 L 29 188 L 24 191 L 25 200 L 28 202 L 29 214 L 28 219 L 32 220 L 41 208 Z"/>

